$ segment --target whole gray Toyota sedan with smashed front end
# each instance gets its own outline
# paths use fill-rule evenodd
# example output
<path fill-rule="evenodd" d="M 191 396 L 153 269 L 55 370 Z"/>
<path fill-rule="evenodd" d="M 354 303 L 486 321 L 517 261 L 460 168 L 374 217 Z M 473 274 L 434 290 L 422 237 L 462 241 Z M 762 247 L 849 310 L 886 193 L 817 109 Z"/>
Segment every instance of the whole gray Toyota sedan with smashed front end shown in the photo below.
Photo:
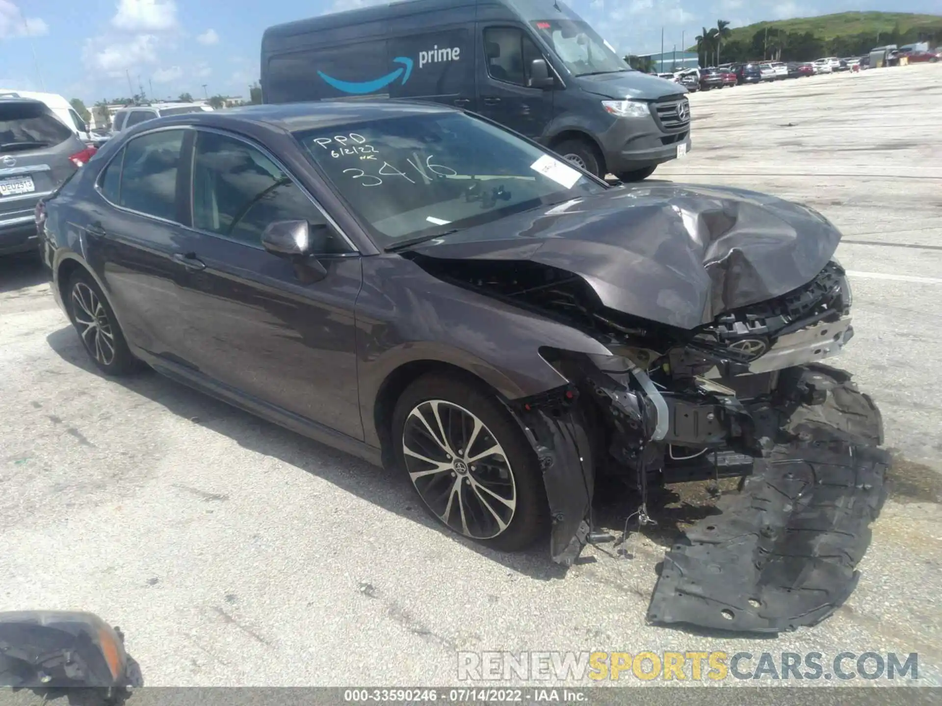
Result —
<path fill-rule="evenodd" d="M 777 632 L 857 581 L 889 461 L 820 361 L 851 338 L 840 239 L 771 196 L 608 185 L 429 104 L 151 120 L 37 209 L 107 374 L 141 363 L 411 480 L 499 550 L 571 565 L 603 476 L 740 477 L 667 553 L 654 623 Z"/>

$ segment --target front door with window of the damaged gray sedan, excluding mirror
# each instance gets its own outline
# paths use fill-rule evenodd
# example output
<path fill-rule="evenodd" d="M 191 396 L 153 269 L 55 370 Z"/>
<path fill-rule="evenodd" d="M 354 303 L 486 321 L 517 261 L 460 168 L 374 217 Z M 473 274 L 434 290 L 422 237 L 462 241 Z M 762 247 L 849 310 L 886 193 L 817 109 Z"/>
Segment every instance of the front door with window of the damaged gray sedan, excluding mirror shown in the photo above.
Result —
<path fill-rule="evenodd" d="M 275 158 L 245 138 L 199 130 L 193 148 L 195 266 L 181 281 L 177 355 L 203 375 L 281 410 L 363 439 L 354 305 L 360 257 L 339 234 L 309 281 L 263 249 L 281 220 L 329 223 Z"/>

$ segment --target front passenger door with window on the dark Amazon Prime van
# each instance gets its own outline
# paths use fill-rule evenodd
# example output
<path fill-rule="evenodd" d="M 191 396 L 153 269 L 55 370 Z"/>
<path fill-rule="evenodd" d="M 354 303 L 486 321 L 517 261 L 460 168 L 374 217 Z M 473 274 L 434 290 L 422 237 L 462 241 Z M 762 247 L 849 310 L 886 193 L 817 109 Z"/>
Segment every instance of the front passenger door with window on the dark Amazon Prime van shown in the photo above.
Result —
<path fill-rule="evenodd" d="M 479 24 L 479 45 L 478 112 L 528 137 L 543 136 L 555 91 L 527 86 L 530 63 L 545 59 L 543 52 L 523 28 L 502 24 Z"/>

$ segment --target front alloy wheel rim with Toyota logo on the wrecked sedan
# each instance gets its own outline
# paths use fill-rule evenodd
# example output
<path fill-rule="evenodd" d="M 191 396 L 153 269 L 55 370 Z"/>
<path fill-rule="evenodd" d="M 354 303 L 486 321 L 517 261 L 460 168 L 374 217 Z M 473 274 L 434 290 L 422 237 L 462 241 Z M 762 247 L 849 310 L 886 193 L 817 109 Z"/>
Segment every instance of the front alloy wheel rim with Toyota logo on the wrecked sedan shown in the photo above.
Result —
<path fill-rule="evenodd" d="M 406 417 L 402 452 L 419 496 L 451 529 L 491 539 L 510 525 L 517 504 L 513 470 L 475 414 L 446 400 L 419 403 Z"/>

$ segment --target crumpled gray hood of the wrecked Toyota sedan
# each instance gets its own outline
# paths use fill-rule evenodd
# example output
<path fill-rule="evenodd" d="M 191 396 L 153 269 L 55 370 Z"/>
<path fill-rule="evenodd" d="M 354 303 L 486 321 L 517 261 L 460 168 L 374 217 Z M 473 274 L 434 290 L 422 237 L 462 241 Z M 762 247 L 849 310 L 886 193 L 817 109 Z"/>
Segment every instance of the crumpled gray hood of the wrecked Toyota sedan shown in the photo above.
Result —
<path fill-rule="evenodd" d="M 734 188 L 619 186 L 415 246 L 448 260 L 530 261 L 587 281 L 602 304 L 682 329 L 814 279 L 840 233 L 797 203 Z"/>

